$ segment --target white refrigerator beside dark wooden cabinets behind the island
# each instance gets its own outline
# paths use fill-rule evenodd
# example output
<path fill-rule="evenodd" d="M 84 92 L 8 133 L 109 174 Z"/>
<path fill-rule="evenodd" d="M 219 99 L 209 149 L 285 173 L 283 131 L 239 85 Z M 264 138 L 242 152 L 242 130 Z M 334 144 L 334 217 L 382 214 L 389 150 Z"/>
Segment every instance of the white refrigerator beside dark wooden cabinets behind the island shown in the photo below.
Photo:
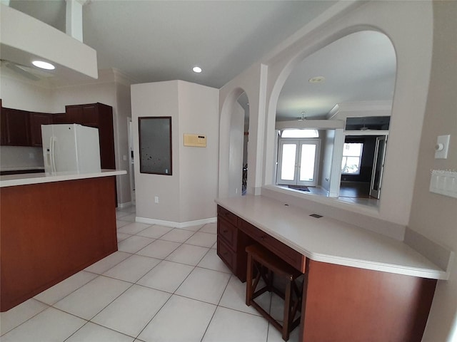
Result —
<path fill-rule="evenodd" d="M 41 125 L 45 172 L 100 172 L 99 129 L 83 125 Z"/>

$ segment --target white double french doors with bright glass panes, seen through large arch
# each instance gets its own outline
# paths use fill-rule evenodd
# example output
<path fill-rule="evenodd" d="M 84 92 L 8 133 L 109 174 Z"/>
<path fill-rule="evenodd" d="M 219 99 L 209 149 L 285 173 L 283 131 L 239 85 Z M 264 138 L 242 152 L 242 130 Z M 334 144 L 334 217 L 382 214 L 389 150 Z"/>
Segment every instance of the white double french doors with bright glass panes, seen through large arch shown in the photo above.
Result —
<path fill-rule="evenodd" d="M 317 139 L 280 140 L 276 183 L 315 187 L 320 145 Z"/>

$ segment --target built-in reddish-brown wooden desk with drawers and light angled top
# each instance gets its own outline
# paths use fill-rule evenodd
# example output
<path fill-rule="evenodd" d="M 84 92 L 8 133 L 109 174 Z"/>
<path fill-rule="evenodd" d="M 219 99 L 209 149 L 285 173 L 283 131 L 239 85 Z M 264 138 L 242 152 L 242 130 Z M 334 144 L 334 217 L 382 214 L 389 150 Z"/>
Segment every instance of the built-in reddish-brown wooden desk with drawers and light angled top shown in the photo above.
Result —
<path fill-rule="evenodd" d="M 306 274 L 300 341 L 420 342 L 436 279 L 448 274 L 401 241 L 262 196 L 217 199 L 218 255 L 246 280 L 259 243 Z"/>

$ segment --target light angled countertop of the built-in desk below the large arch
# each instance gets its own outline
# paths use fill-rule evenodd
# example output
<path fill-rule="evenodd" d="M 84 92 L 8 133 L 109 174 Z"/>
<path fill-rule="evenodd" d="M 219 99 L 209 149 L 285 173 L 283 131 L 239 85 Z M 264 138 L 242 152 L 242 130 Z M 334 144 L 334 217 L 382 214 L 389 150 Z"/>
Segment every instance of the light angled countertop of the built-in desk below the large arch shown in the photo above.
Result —
<path fill-rule="evenodd" d="M 311 217 L 313 212 L 263 196 L 216 199 L 216 203 L 314 261 L 448 279 L 445 270 L 407 244 L 367 229 Z"/>

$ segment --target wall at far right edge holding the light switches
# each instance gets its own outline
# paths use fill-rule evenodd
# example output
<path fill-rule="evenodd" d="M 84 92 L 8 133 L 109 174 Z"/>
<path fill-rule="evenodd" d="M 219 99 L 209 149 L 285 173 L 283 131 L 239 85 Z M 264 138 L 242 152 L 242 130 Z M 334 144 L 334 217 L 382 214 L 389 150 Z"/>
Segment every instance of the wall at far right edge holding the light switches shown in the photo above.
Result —
<path fill-rule="evenodd" d="M 409 227 L 457 252 L 457 199 L 428 191 L 430 170 L 457 172 L 457 2 L 433 1 L 433 61 Z M 434 158 L 438 135 L 451 135 L 448 159 Z M 454 335 L 450 331 L 454 329 Z M 438 281 L 424 342 L 457 341 L 457 262 Z"/>

